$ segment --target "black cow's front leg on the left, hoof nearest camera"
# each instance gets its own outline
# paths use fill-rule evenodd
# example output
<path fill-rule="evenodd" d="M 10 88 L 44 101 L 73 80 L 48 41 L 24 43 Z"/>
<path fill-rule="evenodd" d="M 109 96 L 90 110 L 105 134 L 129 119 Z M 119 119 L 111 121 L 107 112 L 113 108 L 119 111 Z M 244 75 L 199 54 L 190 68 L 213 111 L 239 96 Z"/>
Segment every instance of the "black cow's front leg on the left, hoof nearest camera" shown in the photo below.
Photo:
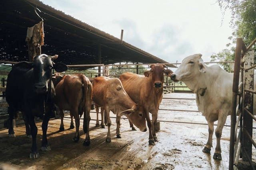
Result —
<path fill-rule="evenodd" d="M 38 149 L 36 146 L 36 135 L 37 135 L 37 127 L 36 127 L 36 123 L 34 121 L 34 117 L 33 116 L 26 116 L 26 118 L 30 128 L 31 128 L 31 135 L 32 135 L 32 147 L 31 147 L 31 152 L 30 152 L 30 159 L 35 159 L 39 157 L 39 153 L 38 153 Z"/>

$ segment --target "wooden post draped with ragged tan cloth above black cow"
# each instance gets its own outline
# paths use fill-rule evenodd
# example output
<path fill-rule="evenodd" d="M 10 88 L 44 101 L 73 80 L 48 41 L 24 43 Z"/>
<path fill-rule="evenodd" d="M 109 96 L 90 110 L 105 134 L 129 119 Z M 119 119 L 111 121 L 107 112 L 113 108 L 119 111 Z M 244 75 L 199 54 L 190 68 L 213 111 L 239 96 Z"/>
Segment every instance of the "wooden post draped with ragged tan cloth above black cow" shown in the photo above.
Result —
<path fill-rule="evenodd" d="M 28 27 L 26 42 L 28 44 L 28 59 L 34 61 L 34 57 L 41 54 L 41 46 L 44 45 L 44 21 L 40 21 L 33 27 Z"/>

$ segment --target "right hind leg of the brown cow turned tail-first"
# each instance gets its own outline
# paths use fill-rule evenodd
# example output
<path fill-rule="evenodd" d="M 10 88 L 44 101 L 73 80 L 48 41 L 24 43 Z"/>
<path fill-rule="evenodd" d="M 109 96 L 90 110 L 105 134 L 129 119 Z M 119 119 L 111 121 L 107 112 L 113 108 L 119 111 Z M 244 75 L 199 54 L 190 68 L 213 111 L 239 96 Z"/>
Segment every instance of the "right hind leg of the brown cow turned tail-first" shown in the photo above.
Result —
<path fill-rule="evenodd" d="M 89 125 L 90 125 L 90 120 L 91 120 L 91 117 L 90 117 L 90 109 L 91 109 L 91 106 L 87 106 L 86 107 L 86 111 L 84 111 L 84 125 L 83 125 L 83 129 L 84 129 L 84 133 L 86 133 L 86 137 L 85 137 L 85 140 L 84 140 L 84 143 L 83 145 L 90 145 L 91 141 L 90 141 L 90 135 L 89 135 Z"/>

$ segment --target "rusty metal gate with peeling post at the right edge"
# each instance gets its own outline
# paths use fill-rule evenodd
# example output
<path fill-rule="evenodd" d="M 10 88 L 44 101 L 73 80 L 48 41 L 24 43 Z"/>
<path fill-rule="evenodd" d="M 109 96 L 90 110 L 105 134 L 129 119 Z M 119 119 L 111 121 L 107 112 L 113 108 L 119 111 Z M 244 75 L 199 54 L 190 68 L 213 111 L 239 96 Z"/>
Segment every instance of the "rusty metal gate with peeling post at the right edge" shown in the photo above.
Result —
<path fill-rule="evenodd" d="M 256 64 L 254 64 L 255 52 L 250 49 L 255 42 L 256 39 L 246 47 L 241 38 L 236 41 L 229 170 L 244 169 L 245 166 L 255 170 L 256 167 L 256 164 L 252 162 L 252 145 L 256 148 L 255 141 L 252 139 L 253 120 L 256 121 L 256 117 L 253 115 L 253 107 L 255 107 L 253 106 L 253 95 L 256 94 L 253 89 Z M 236 119 L 236 115 L 238 115 L 238 119 Z M 240 128 L 238 129 L 238 127 Z"/>

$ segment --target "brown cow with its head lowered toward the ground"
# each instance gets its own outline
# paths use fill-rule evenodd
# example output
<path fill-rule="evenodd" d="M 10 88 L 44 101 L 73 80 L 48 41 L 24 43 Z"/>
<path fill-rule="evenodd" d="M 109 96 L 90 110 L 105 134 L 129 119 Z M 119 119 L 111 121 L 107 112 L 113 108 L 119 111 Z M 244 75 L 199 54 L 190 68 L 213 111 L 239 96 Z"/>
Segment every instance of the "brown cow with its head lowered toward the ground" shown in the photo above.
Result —
<path fill-rule="evenodd" d="M 116 114 L 116 136 L 121 138 L 120 135 L 120 117 L 126 115 L 128 119 L 134 123 L 140 131 L 147 131 L 145 121 L 145 109 L 135 104 L 131 98 L 124 91 L 121 81 L 118 78 L 108 78 L 104 76 L 94 78 L 92 90 L 92 100 L 98 107 L 104 107 L 106 123 L 108 125 L 108 134 L 106 142 L 111 142 L 110 134 L 110 115 L 112 111 Z"/>

